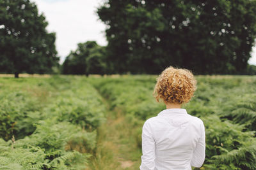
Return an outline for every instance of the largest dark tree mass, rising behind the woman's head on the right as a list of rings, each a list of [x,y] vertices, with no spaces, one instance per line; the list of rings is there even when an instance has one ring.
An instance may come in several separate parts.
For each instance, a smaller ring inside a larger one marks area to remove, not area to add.
[[[255,0],[109,0],[97,13],[108,25],[107,58],[115,73],[158,74],[172,65],[236,74],[246,72],[254,11]]]

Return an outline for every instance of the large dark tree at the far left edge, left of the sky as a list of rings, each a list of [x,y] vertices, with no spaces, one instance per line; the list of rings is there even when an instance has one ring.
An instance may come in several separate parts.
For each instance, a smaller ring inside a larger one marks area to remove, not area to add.
[[[51,73],[58,64],[55,33],[29,0],[0,1],[0,72]]]

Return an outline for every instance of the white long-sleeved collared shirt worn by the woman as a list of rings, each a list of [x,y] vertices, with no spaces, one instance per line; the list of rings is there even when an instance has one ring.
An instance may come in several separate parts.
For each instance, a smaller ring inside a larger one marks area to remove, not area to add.
[[[166,109],[149,118],[141,137],[141,170],[191,170],[204,163],[204,123],[185,109]]]

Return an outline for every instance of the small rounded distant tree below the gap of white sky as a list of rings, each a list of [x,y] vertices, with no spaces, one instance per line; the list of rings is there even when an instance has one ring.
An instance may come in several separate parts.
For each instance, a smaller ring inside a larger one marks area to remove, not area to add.
[[[101,74],[106,72],[105,47],[95,41],[79,43],[77,50],[70,52],[62,66],[63,74]]]

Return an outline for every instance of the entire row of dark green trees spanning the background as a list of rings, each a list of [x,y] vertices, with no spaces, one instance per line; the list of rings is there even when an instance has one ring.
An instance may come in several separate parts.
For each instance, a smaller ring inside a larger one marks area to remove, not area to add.
[[[59,66],[54,32],[28,0],[0,2],[0,72],[255,74],[248,65],[256,38],[256,1],[109,0],[97,9],[107,46],[79,43]]]

